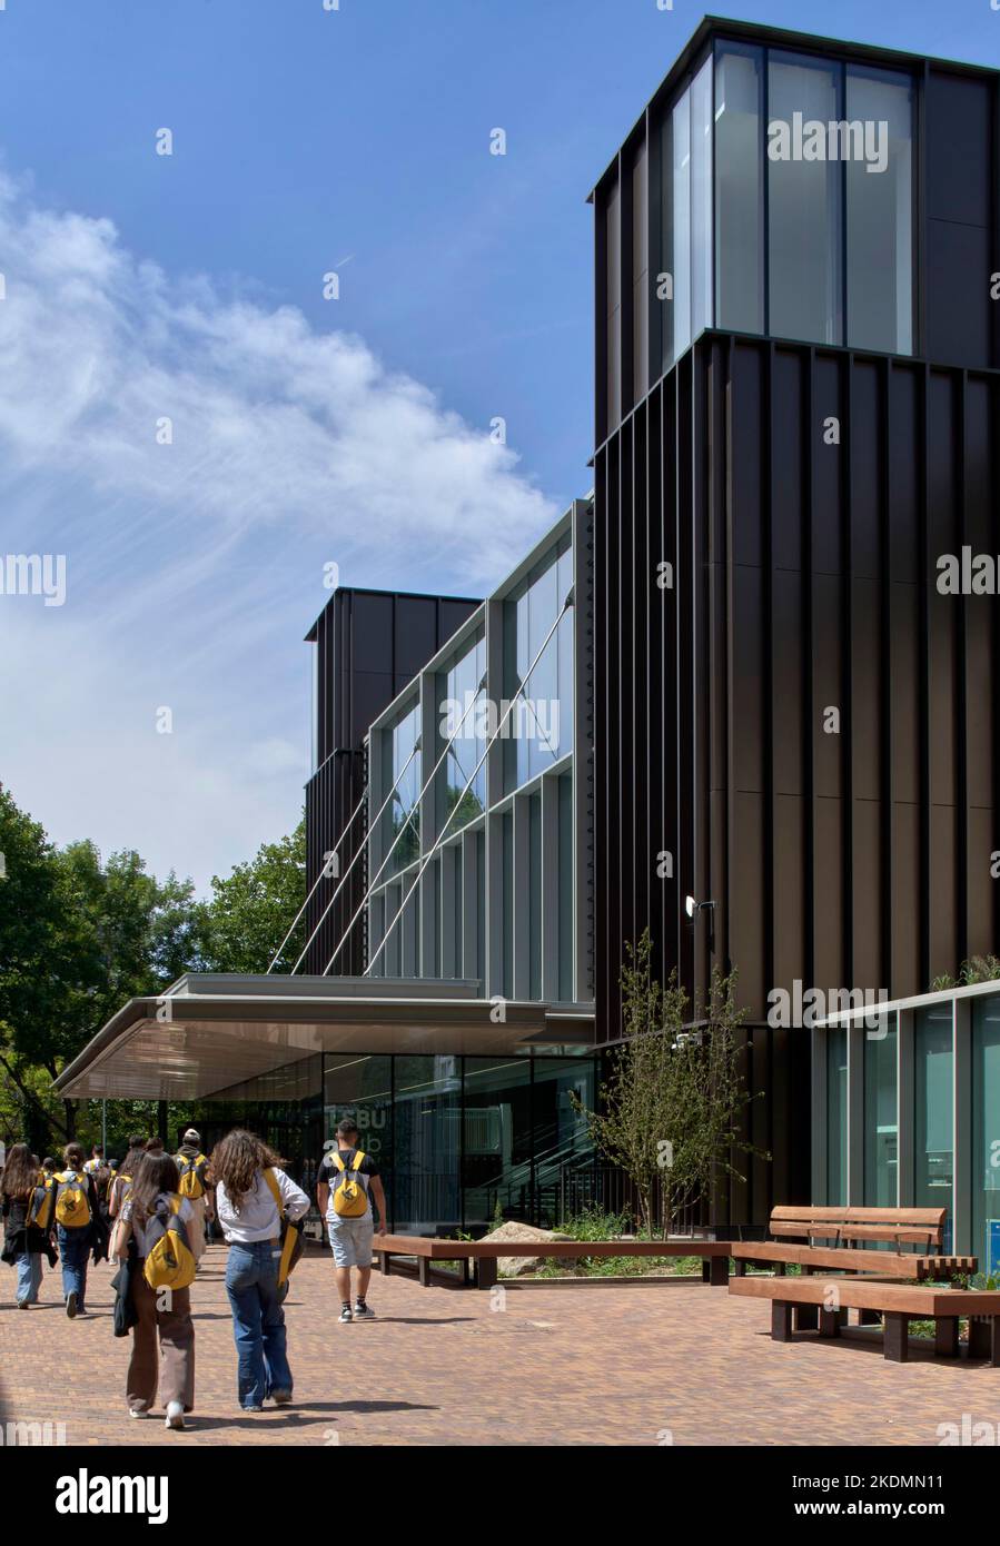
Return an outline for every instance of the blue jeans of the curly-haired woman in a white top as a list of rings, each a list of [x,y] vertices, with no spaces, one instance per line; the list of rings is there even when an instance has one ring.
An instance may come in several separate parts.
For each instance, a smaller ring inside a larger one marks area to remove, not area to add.
[[[260,1407],[275,1391],[292,1391],[284,1311],[278,1297],[278,1240],[233,1243],[226,1263],[226,1292],[233,1311],[241,1407]]]

